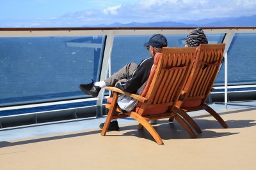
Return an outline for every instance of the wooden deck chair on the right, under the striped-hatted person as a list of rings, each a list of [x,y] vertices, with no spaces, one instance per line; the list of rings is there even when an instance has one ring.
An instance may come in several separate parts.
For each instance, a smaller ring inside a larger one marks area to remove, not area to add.
[[[202,131],[196,122],[187,114],[189,111],[206,110],[216,118],[224,128],[228,127],[220,115],[205,104],[220,69],[224,48],[225,44],[202,44],[199,46],[196,50],[196,58],[193,62],[188,81],[182,90],[182,96],[179,97],[179,101],[175,104],[175,108],[173,109],[189,122],[198,133],[202,133]],[[172,120],[173,118],[170,118],[170,121]]]

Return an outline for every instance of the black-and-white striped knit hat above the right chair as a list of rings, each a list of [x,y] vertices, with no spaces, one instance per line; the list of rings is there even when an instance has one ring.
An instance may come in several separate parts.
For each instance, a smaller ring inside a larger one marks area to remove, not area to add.
[[[208,41],[204,31],[198,27],[188,34],[185,45],[199,46],[200,44],[208,44]]]

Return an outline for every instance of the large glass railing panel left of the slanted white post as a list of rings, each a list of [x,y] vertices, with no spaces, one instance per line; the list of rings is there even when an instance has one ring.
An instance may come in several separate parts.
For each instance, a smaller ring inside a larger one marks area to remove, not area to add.
[[[0,38],[0,106],[84,97],[99,80],[105,36]]]

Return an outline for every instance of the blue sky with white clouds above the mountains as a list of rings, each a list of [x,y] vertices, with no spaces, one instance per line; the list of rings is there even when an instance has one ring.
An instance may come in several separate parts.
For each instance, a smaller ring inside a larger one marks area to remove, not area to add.
[[[256,14],[256,0],[6,0],[0,27],[79,27]]]

